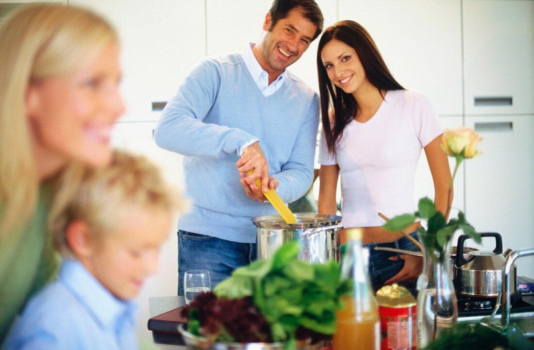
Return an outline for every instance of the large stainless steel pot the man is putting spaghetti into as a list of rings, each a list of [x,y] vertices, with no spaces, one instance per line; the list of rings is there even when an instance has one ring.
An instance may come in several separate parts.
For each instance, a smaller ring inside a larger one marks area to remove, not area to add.
[[[280,216],[258,216],[252,219],[257,227],[258,259],[271,256],[282,244],[297,240],[302,250],[299,259],[308,262],[339,261],[341,216],[297,213],[296,224],[287,224]]]

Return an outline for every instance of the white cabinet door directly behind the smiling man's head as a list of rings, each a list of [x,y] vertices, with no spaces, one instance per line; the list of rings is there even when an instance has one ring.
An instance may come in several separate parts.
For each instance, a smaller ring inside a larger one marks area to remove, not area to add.
[[[265,14],[269,12],[271,4],[272,0],[207,0],[207,55],[240,52],[247,43],[257,42],[262,34]],[[323,12],[325,26],[332,25],[336,21],[336,2],[317,0],[317,4]],[[229,25],[229,19],[238,22],[239,25]],[[304,55],[289,67],[289,71],[316,91],[319,91],[316,68],[318,42],[319,38],[313,41]]]

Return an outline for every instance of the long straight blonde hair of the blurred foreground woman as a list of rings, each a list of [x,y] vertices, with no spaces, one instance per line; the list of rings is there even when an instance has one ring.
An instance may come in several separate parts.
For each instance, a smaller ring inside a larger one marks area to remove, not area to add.
[[[110,42],[115,30],[89,10],[60,4],[21,6],[0,26],[0,238],[33,215],[37,178],[27,122],[28,85],[73,74]]]

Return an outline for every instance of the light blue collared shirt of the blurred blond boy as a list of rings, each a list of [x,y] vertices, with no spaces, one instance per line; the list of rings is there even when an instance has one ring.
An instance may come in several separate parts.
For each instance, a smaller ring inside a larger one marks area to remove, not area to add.
[[[65,260],[13,325],[5,350],[136,350],[131,301],[113,296],[83,265]]]

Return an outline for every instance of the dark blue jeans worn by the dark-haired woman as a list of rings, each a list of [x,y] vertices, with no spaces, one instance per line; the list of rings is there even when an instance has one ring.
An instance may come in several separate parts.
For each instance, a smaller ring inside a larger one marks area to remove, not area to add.
[[[417,231],[410,234],[415,239],[418,239]],[[412,243],[412,241],[406,237],[401,237],[394,242],[387,243],[370,243],[364,244],[364,247],[369,250],[369,275],[371,276],[371,283],[373,287],[380,287],[388,279],[399,273],[404,267],[404,260],[398,259],[397,261],[391,261],[391,256],[399,256],[400,254],[394,252],[384,252],[374,250],[375,247],[388,247],[403,249],[409,251],[419,251],[419,248]],[[421,259],[422,263],[422,259]],[[405,287],[414,288],[415,281],[400,283]]]

